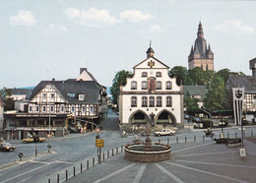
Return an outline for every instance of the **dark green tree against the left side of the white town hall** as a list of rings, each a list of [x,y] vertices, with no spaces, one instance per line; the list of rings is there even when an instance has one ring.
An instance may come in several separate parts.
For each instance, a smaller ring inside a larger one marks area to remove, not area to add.
[[[110,93],[112,94],[112,100],[114,104],[117,104],[117,98],[120,93],[120,86],[125,86],[126,78],[131,78],[133,74],[130,71],[119,71],[113,81],[112,87],[110,88]]]

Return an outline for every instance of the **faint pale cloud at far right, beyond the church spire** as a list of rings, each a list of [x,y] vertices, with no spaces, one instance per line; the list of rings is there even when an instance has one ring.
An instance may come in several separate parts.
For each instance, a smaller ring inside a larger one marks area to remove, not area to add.
[[[232,34],[254,34],[255,30],[252,27],[245,26],[241,21],[229,20],[216,27],[217,30],[224,33]]]

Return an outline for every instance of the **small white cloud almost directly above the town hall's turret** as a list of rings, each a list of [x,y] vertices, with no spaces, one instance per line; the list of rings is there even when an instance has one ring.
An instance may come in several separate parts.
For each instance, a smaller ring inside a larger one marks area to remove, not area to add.
[[[139,23],[152,18],[150,14],[143,14],[139,10],[126,10],[120,14],[121,20],[127,20],[132,23]]]

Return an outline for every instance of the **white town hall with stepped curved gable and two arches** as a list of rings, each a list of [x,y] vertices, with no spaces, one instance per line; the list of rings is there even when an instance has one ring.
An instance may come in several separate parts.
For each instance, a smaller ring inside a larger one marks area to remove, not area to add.
[[[154,57],[150,46],[147,59],[134,66],[132,78],[120,87],[120,125],[179,127],[183,122],[183,92],[176,79],[168,76],[169,67]]]

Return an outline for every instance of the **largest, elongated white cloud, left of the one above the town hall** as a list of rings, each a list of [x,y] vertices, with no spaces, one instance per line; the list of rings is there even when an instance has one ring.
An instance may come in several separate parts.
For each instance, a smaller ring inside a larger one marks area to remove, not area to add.
[[[95,7],[89,10],[68,8],[65,14],[76,24],[88,27],[113,26],[119,23],[115,17],[109,15],[107,10],[97,10]]]

